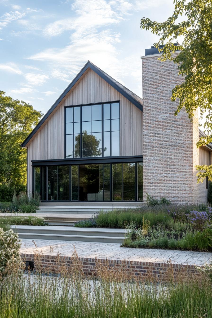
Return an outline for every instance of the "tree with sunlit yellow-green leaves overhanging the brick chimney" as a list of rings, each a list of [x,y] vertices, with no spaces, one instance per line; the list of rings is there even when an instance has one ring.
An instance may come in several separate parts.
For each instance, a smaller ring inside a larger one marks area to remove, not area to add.
[[[192,118],[199,108],[200,118],[204,118],[206,137],[201,137],[197,147],[212,142],[212,1],[211,0],[174,0],[174,12],[165,22],[151,21],[143,17],[140,28],[151,30],[159,40],[154,46],[159,49],[161,61],[173,60],[178,65],[179,75],[185,77],[181,85],[174,87],[171,100],[179,99],[175,111],[177,115],[185,108],[188,117]],[[178,22],[178,17],[185,20]],[[182,36],[181,45],[174,41]],[[163,46],[160,48],[160,46]],[[181,50],[173,58],[172,52]],[[197,166],[197,182],[206,176],[212,181],[212,165]]]

